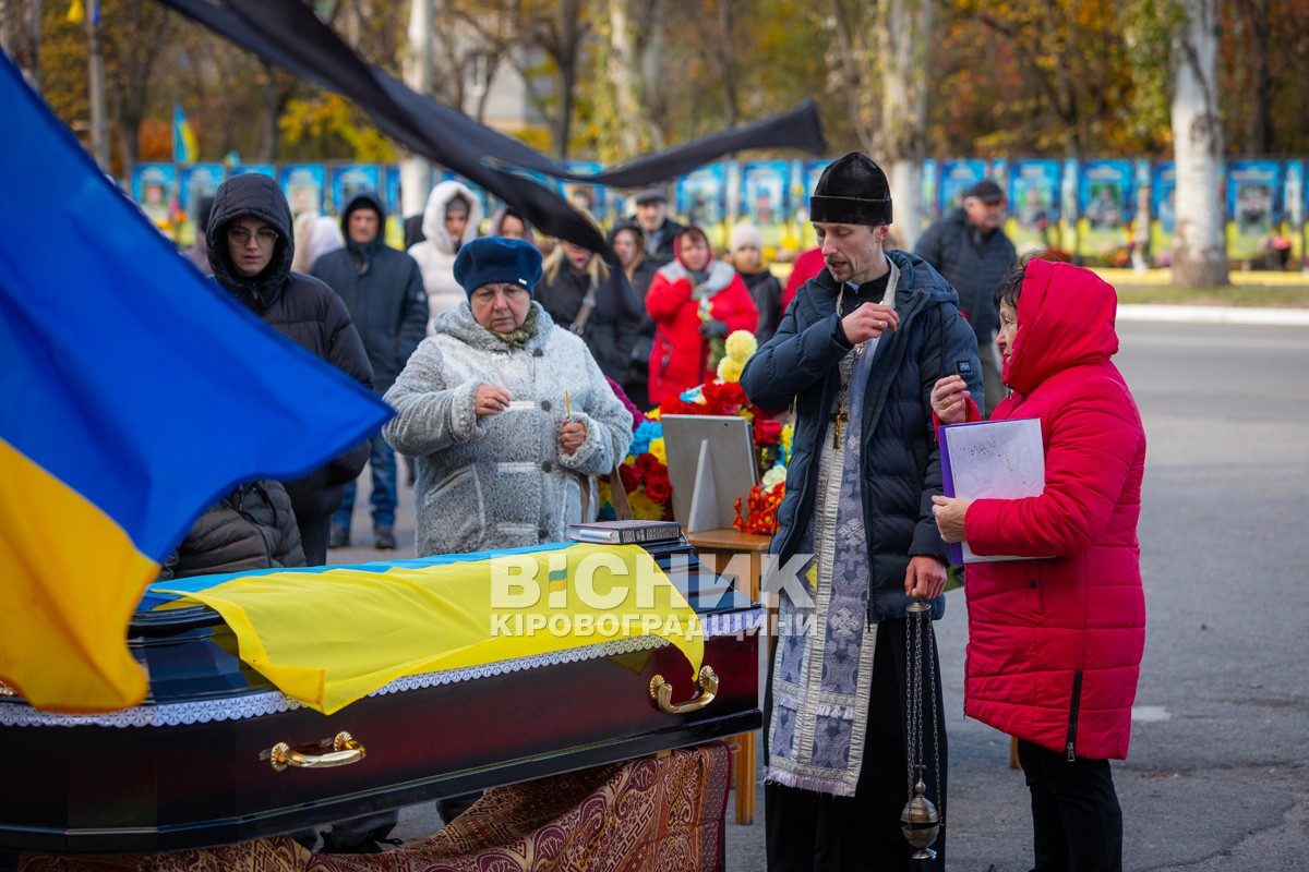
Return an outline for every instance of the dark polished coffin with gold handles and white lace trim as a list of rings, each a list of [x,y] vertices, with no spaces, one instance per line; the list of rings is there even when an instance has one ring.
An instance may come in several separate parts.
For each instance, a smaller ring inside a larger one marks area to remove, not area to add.
[[[245,668],[215,612],[137,612],[141,706],[60,715],[0,696],[0,850],[226,845],[758,728],[761,608],[685,539],[645,549],[704,626],[707,705],[675,647],[637,637],[407,676],[323,715]]]

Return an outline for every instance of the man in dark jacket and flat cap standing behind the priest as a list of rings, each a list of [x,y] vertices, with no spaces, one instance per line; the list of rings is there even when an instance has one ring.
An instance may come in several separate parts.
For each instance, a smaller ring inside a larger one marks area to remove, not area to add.
[[[936,267],[959,294],[959,311],[978,337],[987,417],[1005,394],[1000,352],[995,346],[1000,329],[995,290],[1018,259],[1009,237],[1000,229],[1004,205],[1004,190],[983,179],[963,195],[961,208],[928,227],[914,246],[914,254]]]

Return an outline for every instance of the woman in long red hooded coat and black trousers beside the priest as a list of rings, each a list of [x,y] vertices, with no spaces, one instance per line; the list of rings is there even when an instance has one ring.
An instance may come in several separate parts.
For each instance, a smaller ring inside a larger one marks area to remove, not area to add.
[[[996,293],[1012,394],[992,418],[1041,418],[1039,497],[933,497],[970,563],[965,713],[1018,739],[1031,791],[1037,869],[1122,869],[1122,812],[1109,760],[1127,757],[1145,646],[1140,516],[1145,433],[1110,362],[1117,295],[1089,269],[1033,260]],[[946,424],[977,420],[958,377],[932,390]],[[1050,557],[1054,554],[1054,557]]]

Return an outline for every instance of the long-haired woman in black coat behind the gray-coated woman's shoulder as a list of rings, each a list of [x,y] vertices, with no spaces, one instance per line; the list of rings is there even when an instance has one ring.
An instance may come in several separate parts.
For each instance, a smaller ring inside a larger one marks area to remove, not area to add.
[[[558,242],[541,269],[537,302],[555,324],[581,336],[601,373],[620,382],[645,315],[627,276],[567,239]]]

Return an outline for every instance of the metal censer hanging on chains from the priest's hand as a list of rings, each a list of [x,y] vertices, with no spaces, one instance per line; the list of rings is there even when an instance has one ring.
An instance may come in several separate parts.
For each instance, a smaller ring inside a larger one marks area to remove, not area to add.
[[[901,831],[915,850],[915,860],[931,860],[936,858],[936,851],[931,845],[936,842],[941,831],[941,814],[936,805],[925,796],[927,787],[923,784],[923,770],[927,762],[923,757],[923,697],[932,699],[932,754],[936,763],[936,796],[941,796],[941,743],[940,743],[940,716],[936,710],[936,669],[931,667],[931,660],[923,663],[924,643],[931,651],[932,633],[929,629],[929,607],[922,600],[910,603],[906,609],[905,647],[906,665],[908,671],[908,728],[906,743],[908,745],[908,803],[901,812]],[[925,641],[924,641],[925,634]],[[924,672],[929,685],[924,693]],[[944,809],[944,804],[942,804]]]

